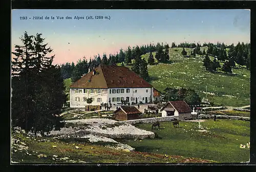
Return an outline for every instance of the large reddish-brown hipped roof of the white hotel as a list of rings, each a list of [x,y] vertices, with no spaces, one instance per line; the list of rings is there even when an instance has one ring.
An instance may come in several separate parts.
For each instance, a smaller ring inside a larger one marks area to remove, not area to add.
[[[93,71],[73,83],[70,88],[152,88],[138,74],[123,66],[99,65]],[[89,82],[90,80],[90,82]]]

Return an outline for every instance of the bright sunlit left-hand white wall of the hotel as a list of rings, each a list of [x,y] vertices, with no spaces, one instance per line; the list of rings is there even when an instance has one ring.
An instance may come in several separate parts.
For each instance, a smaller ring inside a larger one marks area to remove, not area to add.
[[[93,98],[94,100],[90,105],[100,105],[102,102],[105,103],[107,101],[107,89],[93,89],[92,94],[91,89],[86,89],[86,93],[84,93],[83,89],[78,89],[78,93],[76,93],[76,90],[73,88],[70,89],[70,107],[84,107],[89,105],[83,98]],[[100,93],[98,93],[98,90],[100,90]],[[101,102],[97,102],[97,98],[101,98]]]

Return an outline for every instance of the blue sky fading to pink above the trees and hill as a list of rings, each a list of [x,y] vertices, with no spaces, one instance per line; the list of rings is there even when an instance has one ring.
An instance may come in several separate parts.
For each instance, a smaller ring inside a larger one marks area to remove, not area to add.
[[[43,19],[33,19],[33,16]],[[67,16],[72,19],[66,19]],[[87,19],[89,16],[93,19]],[[103,53],[109,57],[121,48],[157,42],[169,45],[185,41],[201,44],[219,41],[227,45],[250,42],[250,10],[16,9],[12,10],[11,29],[12,51],[15,45],[22,45],[20,37],[25,31],[29,35],[42,33],[53,49],[56,65],[76,63],[78,59],[90,59],[97,54],[102,57]]]

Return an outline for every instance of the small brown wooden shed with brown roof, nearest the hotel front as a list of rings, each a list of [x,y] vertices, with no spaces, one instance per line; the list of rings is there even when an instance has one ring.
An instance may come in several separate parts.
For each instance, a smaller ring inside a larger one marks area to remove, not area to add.
[[[114,112],[114,117],[118,121],[141,119],[141,115],[135,106],[121,106]]]

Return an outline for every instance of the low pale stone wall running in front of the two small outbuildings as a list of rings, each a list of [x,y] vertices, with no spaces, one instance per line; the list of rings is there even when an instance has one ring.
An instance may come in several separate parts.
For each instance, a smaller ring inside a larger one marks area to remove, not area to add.
[[[162,122],[162,121],[172,121],[174,118],[179,119],[177,116],[167,116],[167,117],[156,117],[156,118],[145,118],[145,119],[135,119],[135,120],[127,120],[127,121],[118,121],[120,123],[130,123],[130,124],[136,124],[136,123],[153,123],[156,121]]]

